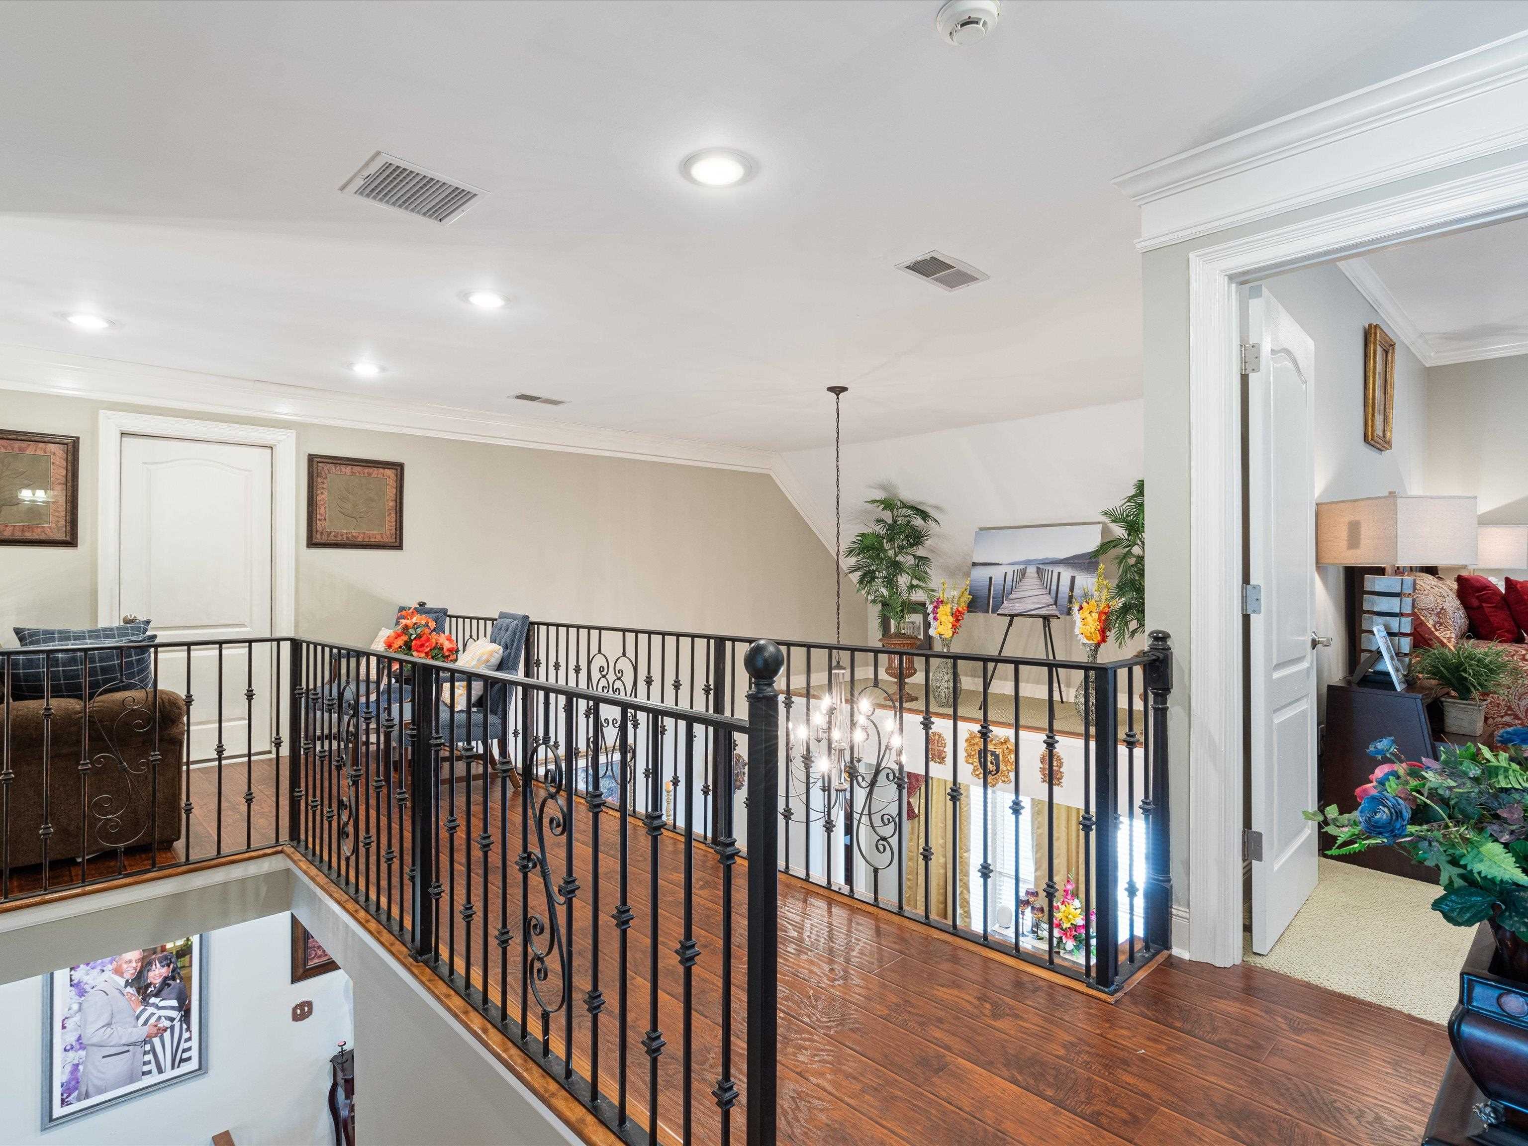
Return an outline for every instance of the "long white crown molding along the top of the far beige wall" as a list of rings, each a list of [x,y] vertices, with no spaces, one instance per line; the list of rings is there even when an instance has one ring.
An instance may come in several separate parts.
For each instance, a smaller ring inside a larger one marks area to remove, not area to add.
[[[348,426],[388,434],[489,442],[524,449],[740,469],[752,474],[773,472],[775,458],[770,452],[741,446],[597,426],[536,425],[515,422],[494,411],[399,402],[18,345],[0,345],[0,390]]]

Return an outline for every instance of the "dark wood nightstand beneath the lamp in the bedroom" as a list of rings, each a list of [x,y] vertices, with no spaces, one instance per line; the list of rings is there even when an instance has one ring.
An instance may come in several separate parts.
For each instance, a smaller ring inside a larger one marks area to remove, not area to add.
[[[1421,692],[1412,689],[1397,692],[1390,688],[1363,685],[1326,686],[1326,736],[1322,741],[1317,784],[1323,808],[1329,804],[1343,811],[1354,808],[1357,802],[1354,788],[1368,784],[1369,773],[1380,764],[1369,755],[1369,744],[1381,736],[1395,736],[1395,747],[1406,759],[1423,759],[1436,753],[1427,720],[1427,703]],[[1323,851],[1325,847],[1326,840]],[[1423,883],[1438,882],[1436,871],[1416,863],[1400,848],[1369,848],[1334,859]]]

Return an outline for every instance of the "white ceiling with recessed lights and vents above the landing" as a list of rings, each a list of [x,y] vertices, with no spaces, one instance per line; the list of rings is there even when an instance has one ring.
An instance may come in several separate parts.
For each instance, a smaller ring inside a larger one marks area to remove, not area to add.
[[[1004,8],[955,49],[938,0],[6,3],[0,342],[761,449],[825,442],[833,382],[851,440],[1132,397],[1111,177],[1528,28]],[[758,176],[692,186],[706,145]],[[492,194],[451,226],[341,196],[376,150]],[[894,269],[929,249],[992,280]]]

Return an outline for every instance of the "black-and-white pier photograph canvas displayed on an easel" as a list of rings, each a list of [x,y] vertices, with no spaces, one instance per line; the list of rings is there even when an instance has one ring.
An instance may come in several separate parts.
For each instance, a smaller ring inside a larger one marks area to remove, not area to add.
[[[970,555],[970,611],[1001,617],[1067,616],[1093,584],[1102,521],[978,529]]]

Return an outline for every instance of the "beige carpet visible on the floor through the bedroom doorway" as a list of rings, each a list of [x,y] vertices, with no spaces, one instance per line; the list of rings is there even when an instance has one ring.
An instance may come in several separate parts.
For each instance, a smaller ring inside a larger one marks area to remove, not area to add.
[[[1248,963],[1320,987],[1447,1022],[1475,927],[1453,927],[1427,905],[1430,883],[1322,859],[1320,882],[1267,955]]]

